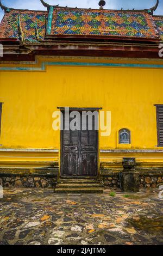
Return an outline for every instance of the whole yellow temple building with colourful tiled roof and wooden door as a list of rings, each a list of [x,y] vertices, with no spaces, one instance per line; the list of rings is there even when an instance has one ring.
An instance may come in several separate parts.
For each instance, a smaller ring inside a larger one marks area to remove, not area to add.
[[[99,181],[123,189],[123,173],[130,173],[135,189],[158,188],[163,184],[163,16],[154,15],[159,1],[143,10],[105,9],[105,1],[97,9],[40,1],[45,11],[13,9],[0,0],[3,186],[57,184],[58,193],[102,192]],[[92,113],[92,130],[87,125],[66,130],[73,111],[80,123],[83,112]],[[105,117],[99,129],[94,112],[100,124]],[[54,127],[57,113],[60,130]]]

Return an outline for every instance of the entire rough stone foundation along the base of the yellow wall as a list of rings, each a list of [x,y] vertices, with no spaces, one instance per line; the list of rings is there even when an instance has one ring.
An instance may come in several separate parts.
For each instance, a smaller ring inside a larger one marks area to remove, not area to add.
[[[157,189],[163,185],[163,170],[138,170],[140,174],[140,189]],[[104,187],[121,188],[120,170],[101,170],[100,179]],[[58,180],[58,169],[33,170],[33,173],[24,170],[1,170],[0,185],[3,187],[39,187],[54,188]]]

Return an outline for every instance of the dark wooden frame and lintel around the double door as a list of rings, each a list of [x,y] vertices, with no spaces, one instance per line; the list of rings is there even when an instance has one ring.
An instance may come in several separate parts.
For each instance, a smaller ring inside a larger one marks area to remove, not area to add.
[[[61,112],[65,111],[65,107],[57,107],[58,109],[60,109]],[[82,112],[82,111],[98,111],[101,110],[102,108],[78,108],[78,107],[70,107],[69,108],[69,111],[79,111],[79,112]],[[98,118],[98,123],[99,123],[99,118]],[[95,175],[92,175],[92,178],[93,177],[99,177],[99,130],[97,130],[97,144],[96,144],[96,154],[97,154],[97,160],[96,160],[96,163],[97,163],[97,169],[96,169],[96,174]],[[66,175],[63,175],[63,165],[62,165],[62,131],[60,130],[60,168],[59,168],[59,178],[64,178],[64,177],[67,177]],[[80,177],[85,177],[86,178],[86,175],[85,176],[82,176],[82,175],[79,175],[79,176],[68,176],[68,178],[80,178]]]

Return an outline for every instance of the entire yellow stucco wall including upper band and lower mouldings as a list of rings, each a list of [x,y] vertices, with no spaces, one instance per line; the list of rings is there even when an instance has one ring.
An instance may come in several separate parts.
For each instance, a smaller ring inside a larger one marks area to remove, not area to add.
[[[4,102],[0,167],[45,168],[59,162],[60,134],[52,129],[52,114],[58,106],[102,107],[111,111],[111,135],[99,136],[99,162],[103,166],[109,163],[111,169],[122,168],[123,157],[136,157],[145,168],[162,167],[163,150],[157,147],[154,106],[163,104],[162,68],[62,63],[41,71],[42,62],[52,61],[163,65],[162,60],[82,57],[38,57],[33,64],[0,63],[0,102]],[[2,67],[40,71],[2,71]],[[118,144],[118,130],[124,127],[131,130],[131,145]]]

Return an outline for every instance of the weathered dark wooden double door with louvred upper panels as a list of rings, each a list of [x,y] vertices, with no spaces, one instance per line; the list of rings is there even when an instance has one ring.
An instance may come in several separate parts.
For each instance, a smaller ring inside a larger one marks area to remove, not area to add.
[[[97,118],[92,116],[92,130],[89,129],[89,117],[86,117],[83,130],[82,112],[80,129],[65,130],[65,112],[61,131],[61,176],[96,176],[98,169],[98,131]],[[92,113],[92,112],[91,112]],[[69,119],[69,124],[71,122]]]

